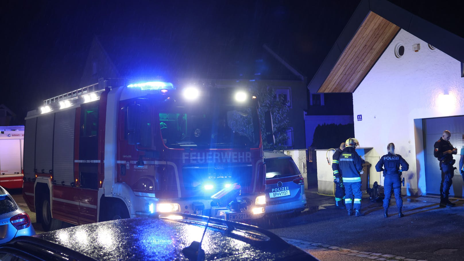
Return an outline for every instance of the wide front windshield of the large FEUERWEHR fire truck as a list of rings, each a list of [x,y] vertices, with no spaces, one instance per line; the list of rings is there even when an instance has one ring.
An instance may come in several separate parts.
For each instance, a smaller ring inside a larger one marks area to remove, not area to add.
[[[159,121],[168,148],[258,148],[261,138],[256,108],[174,107]]]

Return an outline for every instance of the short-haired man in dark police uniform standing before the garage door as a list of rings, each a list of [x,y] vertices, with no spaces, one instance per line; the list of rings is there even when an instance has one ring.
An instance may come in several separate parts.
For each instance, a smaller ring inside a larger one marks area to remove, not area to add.
[[[456,160],[453,159],[453,154],[458,154],[458,149],[453,148],[450,143],[451,132],[443,131],[441,138],[433,145],[433,156],[440,161],[441,183],[440,183],[440,207],[451,208],[456,205],[448,199],[450,195],[450,187],[453,183],[454,168]]]

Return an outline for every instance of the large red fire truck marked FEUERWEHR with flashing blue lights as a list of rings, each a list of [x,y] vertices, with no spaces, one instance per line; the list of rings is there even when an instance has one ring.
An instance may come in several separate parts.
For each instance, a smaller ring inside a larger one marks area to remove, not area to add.
[[[264,215],[256,96],[115,82],[47,99],[27,114],[23,197],[44,230],[154,212],[232,221]]]

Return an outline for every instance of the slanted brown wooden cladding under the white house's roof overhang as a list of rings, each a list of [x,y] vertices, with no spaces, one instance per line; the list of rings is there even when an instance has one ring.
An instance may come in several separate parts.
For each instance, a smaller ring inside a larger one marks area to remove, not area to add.
[[[353,92],[399,30],[369,12],[318,92]]]

